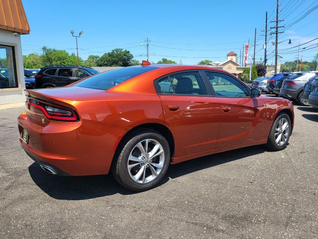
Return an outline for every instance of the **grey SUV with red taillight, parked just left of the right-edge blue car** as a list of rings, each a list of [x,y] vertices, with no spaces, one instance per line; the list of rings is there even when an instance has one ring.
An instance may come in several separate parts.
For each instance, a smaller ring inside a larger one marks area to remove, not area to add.
[[[307,106],[300,97],[303,93],[306,82],[315,75],[314,72],[297,73],[283,81],[282,88],[280,89],[280,96],[289,100],[297,100],[299,104]]]

